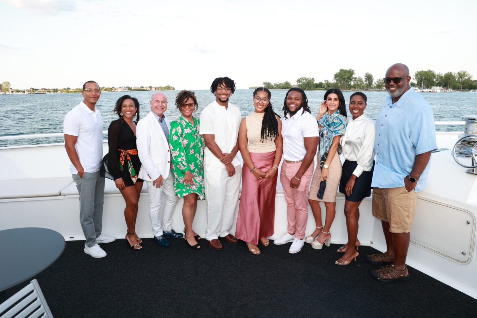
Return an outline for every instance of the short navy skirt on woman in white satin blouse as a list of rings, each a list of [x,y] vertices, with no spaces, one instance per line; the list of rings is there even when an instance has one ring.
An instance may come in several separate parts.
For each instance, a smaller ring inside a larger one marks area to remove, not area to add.
[[[353,174],[353,171],[356,169],[357,165],[358,164],[356,161],[345,160],[343,164],[343,173],[341,174],[340,180],[340,192],[344,194],[347,201],[351,202],[359,202],[365,197],[371,196],[371,181],[373,180],[374,162],[371,171],[363,171],[363,173],[356,178],[351,195],[346,195],[344,191],[346,183],[348,183],[348,180],[350,180],[351,175]]]

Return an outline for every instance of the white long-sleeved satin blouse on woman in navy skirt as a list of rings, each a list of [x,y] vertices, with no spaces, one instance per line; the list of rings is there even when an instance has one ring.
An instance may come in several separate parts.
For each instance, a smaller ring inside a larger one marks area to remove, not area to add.
[[[348,122],[340,144],[344,159],[358,164],[353,174],[359,177],[363,171],[371,171],[374,161],[376,123],[365,114]]]

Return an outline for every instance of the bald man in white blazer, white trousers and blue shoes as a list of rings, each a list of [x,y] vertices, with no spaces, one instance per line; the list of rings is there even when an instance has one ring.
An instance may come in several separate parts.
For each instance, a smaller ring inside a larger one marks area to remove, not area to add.
[[[161,92],[151,97],[151,111],[136,126],[136,143],[141,170],[138,177],[144,179],[149,192],[149,217],[157,244],[169,246],[166,237],[182,237],[172,229],[172,214],[178,197],[174,193],[173,174],[170,172],[171,152],[169,149],[169,121],[164,112],[167,98]],[[162,194],[166,205],[161,213]]]

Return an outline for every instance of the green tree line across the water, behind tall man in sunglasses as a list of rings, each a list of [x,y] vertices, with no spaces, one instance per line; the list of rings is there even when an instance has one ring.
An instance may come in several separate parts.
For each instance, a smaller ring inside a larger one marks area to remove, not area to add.
[[[291,87],[300,87],[303,90],[327,90],[332,87],[338,87],[341,90],[384,90],[384,80],[378,78],[374,80],[373,74],[364,73],[364,76],[355,76],[353,69],[340,69],[333,75],[333,81],[324,80],[315,82],[314,77],[300,77],[296,80],[296,85],[286,81],[283,83],[263,82],[263,87],[268,89],[290,89]],[[436,73],[432,70],[415,72],[411,86],[419,88],[442,86],[448,89],[460,87],[463,89],[477,89],[477,81],[472,81],[472,75],[467,71],[446,72],[445,74]],[[421,87],[423,86],[423,87]],[[256,87],[253,87],[256,88]]]

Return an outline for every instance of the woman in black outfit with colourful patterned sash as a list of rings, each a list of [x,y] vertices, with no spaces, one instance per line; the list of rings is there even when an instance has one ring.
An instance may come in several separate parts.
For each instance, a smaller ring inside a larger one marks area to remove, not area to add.
[[[141,162],[137,155],[136,123],[139,121],[139,102],[136,98],[124,95],[114,107],[119,119],[113,121],[108,129],[109,160],[108,170],[114,176],[114,183],[126,201],[126,240],[134,249],[141,249],[142,240],[135,233],[137,203],[143,187],[143,179],[137,174]],[[136,121],[133,120],[136,116]]]

